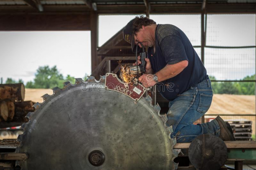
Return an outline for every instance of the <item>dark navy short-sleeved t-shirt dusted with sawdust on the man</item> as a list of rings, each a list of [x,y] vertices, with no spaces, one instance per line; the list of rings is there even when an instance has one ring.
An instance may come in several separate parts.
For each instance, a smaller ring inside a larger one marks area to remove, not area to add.
[[[174,100],[190,87],[208,79],[206,69],[188,37],[178,27],[171,24],[158,24],[155,30],[155,53],[148,48],[148,58],[154,72],[166,64],[176,64],[187,60],[188,66],[177,76],[157,84],[157,90],[169,101]]]

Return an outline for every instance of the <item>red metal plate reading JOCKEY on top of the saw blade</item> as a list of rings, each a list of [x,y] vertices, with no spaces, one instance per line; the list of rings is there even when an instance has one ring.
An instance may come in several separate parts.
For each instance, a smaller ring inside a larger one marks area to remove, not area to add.
[[[135,101],[139,101],[142,95],[146,92],[146,88],[141,84],[133,86],[132,83],[124,83],[113,73],[106,73],[105,88],[127,95]]]

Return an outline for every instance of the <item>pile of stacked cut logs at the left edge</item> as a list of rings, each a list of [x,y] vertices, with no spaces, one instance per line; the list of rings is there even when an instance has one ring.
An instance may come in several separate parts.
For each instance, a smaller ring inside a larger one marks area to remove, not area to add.
[[[27,113],[34,112],[32,101],[24,101],[25,86],[18,84],[0,84],[0,128],[19,126],[28,120]]]

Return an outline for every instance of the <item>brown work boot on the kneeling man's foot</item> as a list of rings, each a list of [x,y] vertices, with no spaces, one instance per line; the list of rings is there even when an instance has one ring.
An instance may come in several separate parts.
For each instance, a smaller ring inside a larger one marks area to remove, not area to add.
[[[217,116],[215,118],[215,120],[217,120],[218,124],[219,124],[219,128],[221,130],[219,137],[223,140],[223,141],[232,141],[232,140],[236,140],[233,136],[233,131],[232,128],[230,126],[230,124],[228,122],[225,122],[221,117]]]

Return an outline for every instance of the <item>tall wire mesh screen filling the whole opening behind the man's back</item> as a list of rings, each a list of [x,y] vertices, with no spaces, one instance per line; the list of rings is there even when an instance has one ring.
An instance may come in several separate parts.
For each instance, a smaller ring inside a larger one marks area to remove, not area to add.
[[[221,115],[236,140],[255,140],[255,20],[255,15],[207,15],[204,65],[214,96],[204,122]]]

